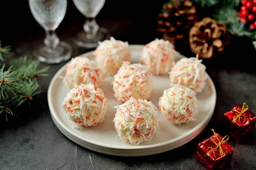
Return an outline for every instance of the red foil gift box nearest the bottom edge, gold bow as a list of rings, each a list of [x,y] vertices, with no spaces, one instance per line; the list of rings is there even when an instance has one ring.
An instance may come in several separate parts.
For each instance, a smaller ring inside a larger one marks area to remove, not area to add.
[[[207,170],[219,170],[231,161],[233,147],[226,142],[229,139],[228,136],[222,138],[213,129],[212,131],[214,135],[198,144],[195,159]]]

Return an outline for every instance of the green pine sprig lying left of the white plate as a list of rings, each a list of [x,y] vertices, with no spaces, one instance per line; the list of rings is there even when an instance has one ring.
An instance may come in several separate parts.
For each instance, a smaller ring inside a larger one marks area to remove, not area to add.
[[[40,91],[37,77],[46,76],[44,74],[49,67],[38,70],[39,61],[28,57],[20,57],[11,62],[5,70],[5,65],[0,66],[0,113],[15,115],[13,107],[20,106],[26,100],[32,100],[33,96]]]

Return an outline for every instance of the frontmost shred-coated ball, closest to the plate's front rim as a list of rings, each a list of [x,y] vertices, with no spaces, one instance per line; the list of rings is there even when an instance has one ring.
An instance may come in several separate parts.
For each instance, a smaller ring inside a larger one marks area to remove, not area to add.
[[[157,108],[149,101],[131,97],[122,105],[116,106],[113,119],[118,136],[131,144],[150,141],[159,133]]]

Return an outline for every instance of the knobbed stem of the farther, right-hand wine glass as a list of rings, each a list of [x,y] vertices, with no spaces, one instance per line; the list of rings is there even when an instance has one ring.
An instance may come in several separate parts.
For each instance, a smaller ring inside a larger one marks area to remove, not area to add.
[[[93,39],[99,30],[99,25],[96,23],[95,17],[88,17],[84,23],[84,31],[87,33],[87,39]]]

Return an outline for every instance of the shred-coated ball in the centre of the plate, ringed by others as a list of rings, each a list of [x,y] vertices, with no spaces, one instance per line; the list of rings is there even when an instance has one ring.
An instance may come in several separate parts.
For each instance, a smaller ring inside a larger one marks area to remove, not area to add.
[[[149,99],[153,91],[153,74],[144,65],[123,62],[114,76],[114,96],[120,102],[135,99]]]

